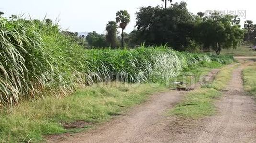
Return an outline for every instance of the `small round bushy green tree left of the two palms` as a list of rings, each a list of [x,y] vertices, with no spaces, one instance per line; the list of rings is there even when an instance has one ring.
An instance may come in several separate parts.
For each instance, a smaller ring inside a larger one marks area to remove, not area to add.
[[[88,33],[86,36],[86,41],[88,44],[92,47],[107,47],[107,42],[106,42],[106,36],[103,34],[98,34],[95,31],[92,33]]]

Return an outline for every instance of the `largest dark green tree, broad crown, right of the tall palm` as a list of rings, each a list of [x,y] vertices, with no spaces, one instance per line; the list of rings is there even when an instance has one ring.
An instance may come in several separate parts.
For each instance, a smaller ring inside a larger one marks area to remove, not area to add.
[[[136,43],[140,45],[165,45],[184,51],[190,45],[194,17],[186,3],[174,3],[172,7],[142,7],[136,13]]]

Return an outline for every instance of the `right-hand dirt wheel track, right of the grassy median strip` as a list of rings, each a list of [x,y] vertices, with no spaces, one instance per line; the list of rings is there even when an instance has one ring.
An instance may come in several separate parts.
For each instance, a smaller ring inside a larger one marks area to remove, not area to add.
[[[252,97],[243,91],[243,67],[233,72],[223,99],[217,102],[219,114],[209,119],[198,142],[256,142],[256,106]]]

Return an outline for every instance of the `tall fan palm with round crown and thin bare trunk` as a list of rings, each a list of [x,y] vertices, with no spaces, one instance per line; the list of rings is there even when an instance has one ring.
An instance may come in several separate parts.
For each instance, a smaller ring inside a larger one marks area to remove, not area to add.
[[[124,29],[130,22],[130,14],[127,12],[127,10],[121,10],[116,13],[116,23],[119,23],[119,28],[122,29],[122,48],[124,48]]]

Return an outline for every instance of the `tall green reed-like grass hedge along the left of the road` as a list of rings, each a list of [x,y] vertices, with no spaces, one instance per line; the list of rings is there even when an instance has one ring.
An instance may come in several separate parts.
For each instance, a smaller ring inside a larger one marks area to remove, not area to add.
[[[165,47],[134,50],[81,48],[58,25],[0,17],[0,105],[57,97],[95,82],[166,82],[202,61],[231,57],[180,53]]]

